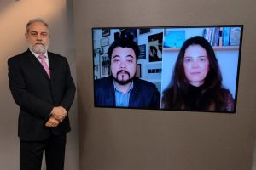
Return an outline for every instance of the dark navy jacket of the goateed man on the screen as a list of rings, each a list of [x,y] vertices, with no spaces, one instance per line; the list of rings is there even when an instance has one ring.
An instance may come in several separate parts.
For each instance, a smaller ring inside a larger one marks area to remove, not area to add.
[[[102,107],[115,107],[115,94],[113,77],[105,77],[95,81],[95,105]],[[129,107],[140,109],[159,109],[160,93],[151,82],[138,78],[133,80]]]

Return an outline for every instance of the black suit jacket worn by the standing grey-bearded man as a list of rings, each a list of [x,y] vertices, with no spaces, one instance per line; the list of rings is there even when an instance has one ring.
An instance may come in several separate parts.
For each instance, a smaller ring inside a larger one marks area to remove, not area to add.
[[[48,57],[50,78],[29,49],[8,59],[9,88],[20,106],[20,140],[43,140],[51,133],[60,135],[70,131],[68,116],[58,127],[44,126],[54,106],[69,110],[76,90],[67,59],[50,52]]]

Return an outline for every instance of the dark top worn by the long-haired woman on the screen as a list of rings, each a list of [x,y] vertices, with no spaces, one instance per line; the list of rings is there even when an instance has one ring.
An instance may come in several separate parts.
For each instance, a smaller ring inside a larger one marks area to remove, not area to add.
[[[189,84],[185,92],[174,96],[174,88],[165,90],[162,98],[162,109],[183,111],[234,111],[234,99],[230,91],[195,87]]]

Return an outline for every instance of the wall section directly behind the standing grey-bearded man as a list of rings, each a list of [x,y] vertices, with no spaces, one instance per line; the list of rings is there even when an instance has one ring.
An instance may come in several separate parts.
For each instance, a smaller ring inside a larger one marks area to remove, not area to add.
[[[0,0],[0,169],[19,169],[17,136],[18,111],[9,92],[7,59],[27,49],[26,22],[42,17],[49,22],[50,51],[67,57],[76,81],[76,63],[73,35],[73,4],[63,0]],[[79,169],[79,137],[77,99],[69,112],[73,131],[67,135],[66,169]],[[43,167],[45,169],[45,167]]]

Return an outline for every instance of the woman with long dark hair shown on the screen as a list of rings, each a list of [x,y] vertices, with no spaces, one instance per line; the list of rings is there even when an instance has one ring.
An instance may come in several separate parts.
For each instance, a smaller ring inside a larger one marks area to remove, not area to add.
[[[191,37],[177,56],[172,82],[163,92],[162,108],[183,111],[234,111],[234,99],[223,88],[218,60],[203,37]]]

